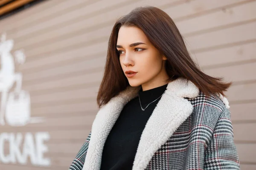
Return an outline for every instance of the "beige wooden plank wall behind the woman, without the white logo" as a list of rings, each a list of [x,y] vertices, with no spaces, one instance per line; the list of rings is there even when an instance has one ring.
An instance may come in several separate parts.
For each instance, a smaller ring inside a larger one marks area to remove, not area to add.
[[[232,80],[227,92],[241,170],[256,170],[256,0],[48,0],[0,20],[0,33],[23,48],[16,65],[44,122],[0,126],[0,133],[49,132],[50,167],[0,164],[1,170],[63,170],[73,161],[97,112],[111,28],[138,6],[166,11],[209,75]],[[6,148],[8,150],[8,148]]]

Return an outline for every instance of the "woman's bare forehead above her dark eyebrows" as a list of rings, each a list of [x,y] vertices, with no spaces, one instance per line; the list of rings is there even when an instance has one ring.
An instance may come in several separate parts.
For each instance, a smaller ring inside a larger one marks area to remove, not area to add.
[[[117,45],[130,45],[134,42],[147,43],[148,38],[140,28],[122,26],[118,32]]]

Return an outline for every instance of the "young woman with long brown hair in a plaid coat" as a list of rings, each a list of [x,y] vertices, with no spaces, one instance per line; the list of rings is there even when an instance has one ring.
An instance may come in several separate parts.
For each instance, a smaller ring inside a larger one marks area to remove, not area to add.
[[[113,26],[99,112],[70,170],[239,170],[230,85],[200,71],[168,14],[134,9]]]

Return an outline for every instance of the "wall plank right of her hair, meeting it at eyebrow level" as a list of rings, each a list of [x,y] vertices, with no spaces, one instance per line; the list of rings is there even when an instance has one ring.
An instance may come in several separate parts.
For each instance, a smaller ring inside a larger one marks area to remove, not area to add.
[[[189,51],[207,51],[209,48],[256,39],[256,22],[246,23],[231,28],[185,37]]]

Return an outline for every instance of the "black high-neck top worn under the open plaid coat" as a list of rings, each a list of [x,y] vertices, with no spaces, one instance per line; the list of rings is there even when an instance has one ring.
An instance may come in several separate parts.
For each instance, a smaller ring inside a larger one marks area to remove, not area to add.
[[[139,91],[139,96],[128,102],[121,111],[105,142],[101,170],[131,170],[139,145],[140,136],[151,113],[161,99],[168,84],[147,91]],[[159,99],[157,99],[160,97]],[[155,102],[153,102],[157,99]],[[142,111],[140,107],[146,108]]]

